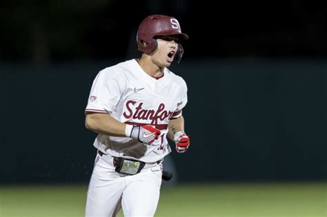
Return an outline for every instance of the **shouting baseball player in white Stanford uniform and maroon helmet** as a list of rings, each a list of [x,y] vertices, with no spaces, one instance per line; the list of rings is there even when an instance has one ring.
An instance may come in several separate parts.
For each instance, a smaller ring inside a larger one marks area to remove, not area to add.
[[[97,132],[95,167],[86,216],[154,216],[159,201],[162,161],[190,139],[182,109],[187,86],[168,70],[181,61],[180,41],[188,39],[174,17],[146,17],[137,32],[140,59],[124,61],[97,74],[86,106],[86,128]]]

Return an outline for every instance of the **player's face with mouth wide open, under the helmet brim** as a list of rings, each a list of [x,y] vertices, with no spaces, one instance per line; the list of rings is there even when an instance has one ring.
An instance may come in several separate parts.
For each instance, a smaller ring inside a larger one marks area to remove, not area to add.
[[[174,61],[178,47],[175,36],[157,37],[158,48],[152,56],[152,61],[159,67],[168,67]]]

